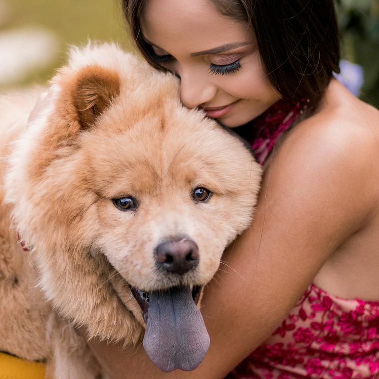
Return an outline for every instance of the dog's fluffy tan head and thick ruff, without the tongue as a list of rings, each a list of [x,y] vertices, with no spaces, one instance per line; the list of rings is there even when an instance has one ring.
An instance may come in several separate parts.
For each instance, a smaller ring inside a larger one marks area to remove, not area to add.
[[[130,288],[145,319],[144,297],[195,296],[249,225],[260,168],[180,104],[177,78],[114,45],[73,51],[51,92],[14,144],[7,200],[59,312],[135,342],[133,318],[143,321]]]

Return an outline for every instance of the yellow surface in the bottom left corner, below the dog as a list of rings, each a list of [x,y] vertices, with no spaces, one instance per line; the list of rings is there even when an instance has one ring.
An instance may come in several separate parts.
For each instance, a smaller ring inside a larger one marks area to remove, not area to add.
[[[0,379],[44,379],[45,364],[0,353]]]

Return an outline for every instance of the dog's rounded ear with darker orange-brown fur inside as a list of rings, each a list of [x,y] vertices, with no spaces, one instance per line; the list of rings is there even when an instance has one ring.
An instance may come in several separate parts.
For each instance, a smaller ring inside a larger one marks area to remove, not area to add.
[[[83,68],[71,92],[81,126],[87,128],[93,125],[119,92],[120,77],[117,72],[95,65]]]

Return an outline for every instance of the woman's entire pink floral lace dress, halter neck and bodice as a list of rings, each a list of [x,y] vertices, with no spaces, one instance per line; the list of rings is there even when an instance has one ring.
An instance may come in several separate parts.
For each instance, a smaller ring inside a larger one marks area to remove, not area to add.
[[[307,103],[279,101],[256,119],[259,163]],[[342,299],[311,284],[270,338],[225,379],[254,378],[379,379],[379,301]]]

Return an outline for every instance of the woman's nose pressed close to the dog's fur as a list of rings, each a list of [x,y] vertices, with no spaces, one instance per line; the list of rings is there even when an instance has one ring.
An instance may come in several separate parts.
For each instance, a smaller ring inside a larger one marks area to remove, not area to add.
[[[212,100],[217,92],[213,83],[196,77],[196,75],[180,75],[181,101],[187,108],[196,108]]]

